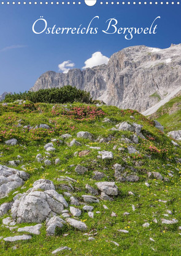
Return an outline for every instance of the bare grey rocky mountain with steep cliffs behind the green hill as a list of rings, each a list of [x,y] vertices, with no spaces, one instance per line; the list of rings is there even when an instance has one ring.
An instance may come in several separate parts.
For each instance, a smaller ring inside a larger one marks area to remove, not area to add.
[[[168,49],[128,47],[113,54],[107,65],[68,73],[48,71],[31,91],[65,85],[90,91],[108,105],[144,112],[180,90],[181,44]]]

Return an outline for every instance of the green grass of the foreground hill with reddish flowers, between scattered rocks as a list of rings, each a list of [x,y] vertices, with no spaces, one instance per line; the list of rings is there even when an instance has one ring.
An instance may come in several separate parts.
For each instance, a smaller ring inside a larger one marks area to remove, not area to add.
[[[68,109],[68,110],[67,110]],[[132,117],[131,117],[132,116]],[[110,118],[110,123],[104,123],[102,120]],[[134,119],[133,119],[134,117]],[[20,121],[21,120],[21,121]],[[120,122],[138,123],[143,125],[142,134],[146,139],[139,137],[138,144],[128,144],[121,141],[121,136],[131,138],[131,131],[113,131]],[[18,126],[21,123],[22,126]],[[23,129],[23,126],[36,126],[45,123],[51,127],[50,130]],[[88,131],[93,134],[94,139],[99,136],[107,138],[111,136],[109,142],[95,142],[88,139],[76,138],[79,131]],[[37,162],[38,153],[45,157],[44,145],[50,142],[52,138],[61,138],[61,134],[69,133],[72,138],[64,140],[63,144],[54,143],[56,151],[50,152],[48,159],[52,165],[45,166],[44,162]],[[7,146],[4,142],[7,139],[16,138],[16,146]],[[82,146],[67,146],[73,138],[82,143]],[[2,106],[0,104],[0,163],[8,165],[10,160],[17,160],[17,155],[21,155],[21,162],[17,165],[18,170],[25,165],[26,171],[30,177],[22,188],[10,192],[8,197],[0,199],[0,205],[4,202],[10,202],[13,199],[13,192],[26,192],[32,187],[34,181],[40,178],[52,180],[56,191],[63,194],[60,184],[66,184],[66,181],[57,181],[60,176],[69,176],[78,182],[72,184],[74,191],[72,195],[78,197],[83,202],[82,195],[89,194],[85,189],[85,184],[90,184],[94,188],[93,171],[101,171],[106,176],[101,181],[115,181],[114,168],[115,163],[120,163],[125,167],[124,173],[129,175],[135,173],[139,176],[139,181],[116,182],[119,194],[114,197],[114,201],[100,200],[99,204],[90,204],[94,206],[94,218],[88,217],[86,212],[77,219],[82,220],[88,226],[86,233],[94,234],[94,240],[88,241],[84,232],[77,231],[70,226],[64,226],[63,229],[57,229],[55,236],[47,236],[45,232],[45,223],[41,229],[40,235],[32,235],[29,241],[5,242],[2,238],[7,236],[20,235],[17,229],[10,231],[2,225],[2,219],[9,217],[10,213],[0,218],[0,252],[3,256],[12,255],[52,255],[52,251],[61,246],[71,247],[71,251],[64,251],[56,255],[77,255],[77,256],[113,256],[113,255],[181,255],[180,233],[181,226],[181,200],[180,200],[180,173],[181,158],[180,147],[175,148],[171,140],[160,130],[155,128],[153,122],[134,110],[120,110],[117,107],[102,105],[95,107],[93,105],[83,104],[32,104],[26,102],[23,105],[9,104]],[[89,146],[99,146],[101,151],[112,151],[114,159],[98,158],[98,151],[90,149]],[[128,154],[128,146],[135,147],[139,154]],[[115,149],[114,146],[117,146]],[[123,147],[123,151],[118,149]],[[114,148],[114,149],[113,149]],[[90,150],[88,155],[80,157],[74,155],[74,152]],[[60,164],[55,165],[55,159],[60,159]],[[78,163],[88,168],[84,175],[77,175],[75,167]],[[74,167],[71,167],[74,165]],[[42,168],[44,167],[44,168]],[[158,171],[168,181],[148,178],[149,171]],[[145,182],[150,187],[145,186]],[[134,195],[128,193],[132,191]],[[65,197],[69,203],[69,197]],[[99,196],[98,196],[99,198]],[[108,209],[104,209],[106,205]],[[83,205],[78,208],[82,209]],[[172,215],[167,210],[172,211]],[[96,213],[99,212],[99,213]],[[112,212],[116,217],[112,217]],[[128,212],[129,215],[123,213]],[[165,216],[165,214],[168,214]],[[172,220],[175,218],[177,223],[166,225],[161,223],[161,219]],[[157,223],[154,222],[157,220]],[[150,223],[148,228],[143,227],[144,223]],[[32,224],[21,223],[18,227],[30,226]],[[121,233],[118,229],[128,230],[129,233]],[[28,233],[27,233],[28,234]],[[63,236],[68,234],[67,236]],[[151,241],[152,238],[154,241]],[[115,245],[117,242],[119,246]],[[14,247],[16,246],[16,249]]]

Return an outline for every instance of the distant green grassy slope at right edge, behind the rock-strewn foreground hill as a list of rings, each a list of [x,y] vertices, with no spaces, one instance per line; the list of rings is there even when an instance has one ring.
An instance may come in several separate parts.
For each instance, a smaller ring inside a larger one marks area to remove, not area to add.
[[[167,132],[181,130],[181,95],[161,106],[150,118],[156,118]]]

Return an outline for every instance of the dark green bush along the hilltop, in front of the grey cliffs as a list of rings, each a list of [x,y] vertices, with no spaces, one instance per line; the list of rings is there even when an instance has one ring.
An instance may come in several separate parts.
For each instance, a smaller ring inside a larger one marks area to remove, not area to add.
[[[72,102],[82,102],[90,104],[92,99],[90,93],[87,91],[82,91],[70,85],[64,86],[62,88],[52,88],[52,89],[40,89],[39,91],[25,91],[25,93],[14,93],[7,94],[4,102],[13,102],[17,99],[28,100],[34,103],[45,102],[53,104],[64,104]]]

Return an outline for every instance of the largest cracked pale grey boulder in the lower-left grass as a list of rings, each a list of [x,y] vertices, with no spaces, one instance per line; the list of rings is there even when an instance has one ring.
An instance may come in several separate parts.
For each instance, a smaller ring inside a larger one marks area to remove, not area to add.
[[[12,218],[18,223],[42,223],[48,217],[63,212],[68,204],[64,197],[55,191],[52,181],[37,180],[33,188],[20,197],[12,205]]]

